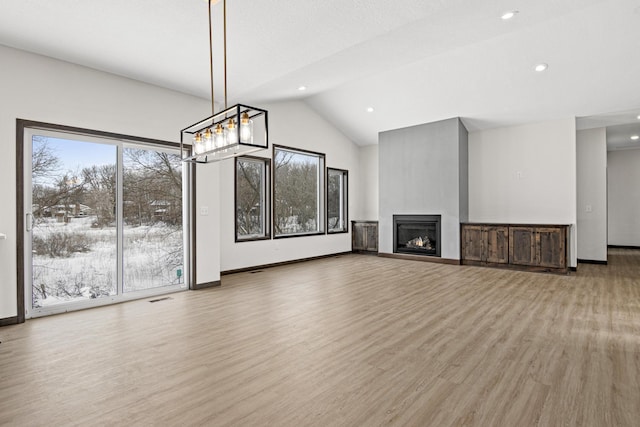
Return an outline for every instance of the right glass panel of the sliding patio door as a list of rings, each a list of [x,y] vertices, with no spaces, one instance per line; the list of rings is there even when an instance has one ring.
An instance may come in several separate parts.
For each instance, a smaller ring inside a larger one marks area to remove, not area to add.
[[[123,149],[123,291],[184,284],[178,153]]]

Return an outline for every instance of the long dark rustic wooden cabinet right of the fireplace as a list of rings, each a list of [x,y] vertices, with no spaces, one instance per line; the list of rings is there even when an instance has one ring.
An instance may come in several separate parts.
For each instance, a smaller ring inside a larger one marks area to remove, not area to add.
[[[568,225],[460,225],[462,264],[567,273]]]

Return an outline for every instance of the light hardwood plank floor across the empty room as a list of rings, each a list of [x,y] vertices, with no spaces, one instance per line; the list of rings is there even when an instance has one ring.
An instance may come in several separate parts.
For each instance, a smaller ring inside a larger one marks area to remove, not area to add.
[[[0,425],[638,426],[640,251],[344,255],[0,328]]]

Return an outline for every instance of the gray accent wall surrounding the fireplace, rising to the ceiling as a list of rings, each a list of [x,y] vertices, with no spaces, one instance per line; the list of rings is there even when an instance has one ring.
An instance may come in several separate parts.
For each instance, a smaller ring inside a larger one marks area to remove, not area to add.
[[[379,251],[393,252],[393,215],[441,215],[442,258],[460,259],[469,217],[468,133],[459,118],[379,134]]]

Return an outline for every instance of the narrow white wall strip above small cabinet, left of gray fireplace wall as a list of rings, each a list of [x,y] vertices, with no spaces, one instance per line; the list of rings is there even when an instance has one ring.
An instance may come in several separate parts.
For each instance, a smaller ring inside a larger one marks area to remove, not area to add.
[[[358,217],[363,221],[378,220],[378,145],[360,147],[360,191],[353,194],[361,207]]]

